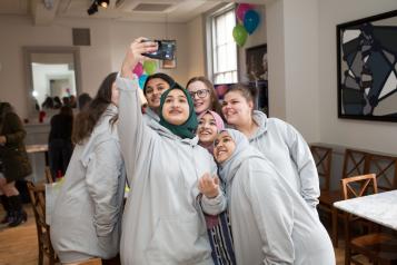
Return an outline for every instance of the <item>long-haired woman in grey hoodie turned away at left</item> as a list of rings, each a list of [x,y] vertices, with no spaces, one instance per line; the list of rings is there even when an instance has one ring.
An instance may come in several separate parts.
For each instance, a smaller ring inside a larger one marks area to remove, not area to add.
[[[105,78],[76,117],[76,147],[51,213],[51,243],[62,264],[110,259],[119,252],[126,171],[116,126],[116,76]]]

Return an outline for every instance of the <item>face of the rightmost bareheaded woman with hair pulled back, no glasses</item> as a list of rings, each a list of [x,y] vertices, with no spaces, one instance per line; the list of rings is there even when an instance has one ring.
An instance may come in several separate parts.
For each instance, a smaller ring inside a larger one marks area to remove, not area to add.
[[[222,114],[229,125],[241,126],[251,120],[254,102],[248,101],[239,91],[225,95]]]

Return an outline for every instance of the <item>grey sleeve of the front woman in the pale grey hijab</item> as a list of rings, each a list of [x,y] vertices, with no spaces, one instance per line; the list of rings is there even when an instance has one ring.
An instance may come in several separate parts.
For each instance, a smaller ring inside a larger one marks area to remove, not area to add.
[[[294,206],[271,167],[249,165],[244,181],[262,241],[264,264],[294,264]]]

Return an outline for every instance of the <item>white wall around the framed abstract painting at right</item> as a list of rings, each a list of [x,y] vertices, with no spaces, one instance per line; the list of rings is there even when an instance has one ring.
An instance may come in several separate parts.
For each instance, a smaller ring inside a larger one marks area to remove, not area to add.
[[[397,154],[397,124],[338,119],[336,65],[336,24],[395,9],[396,0],[318,1],[320,141]]]

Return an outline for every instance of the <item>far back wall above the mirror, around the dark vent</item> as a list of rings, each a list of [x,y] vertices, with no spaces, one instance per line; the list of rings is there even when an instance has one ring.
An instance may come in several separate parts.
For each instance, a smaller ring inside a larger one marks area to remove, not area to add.
[[[111,71],[117,71],[131,40],[139,36],[177,40],[177,68],[168,70],[185,84],[188,73],[186,24],[116,22],[100,19],[58,19],[51,27],[33,27],[24,17],[0,16],[0,100],[10,101],[21,118],[27,109],[23,46],[72,46],[71,28],[90,28],[91,46],[80,47],[82,91],[91,96]],[[159,69],[162,70],[162,69]]]

